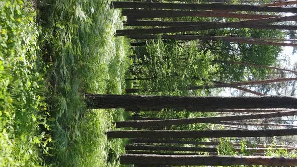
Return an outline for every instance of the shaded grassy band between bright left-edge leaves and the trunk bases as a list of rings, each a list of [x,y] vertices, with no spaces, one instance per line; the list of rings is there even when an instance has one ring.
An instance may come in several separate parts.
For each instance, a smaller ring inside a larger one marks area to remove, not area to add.
[[[120,11],[109,1],[42,1],[44,57],[52,64],[48,103],[55,140],[47,161],[58,166],[117,166],[123,141],[107,140],[123,110],[87,110],[84,93],[121,94],[126,52]]]

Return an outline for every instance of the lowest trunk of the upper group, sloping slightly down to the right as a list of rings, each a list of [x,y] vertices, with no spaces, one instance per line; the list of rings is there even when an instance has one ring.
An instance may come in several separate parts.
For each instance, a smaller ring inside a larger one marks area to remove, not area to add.
[[[135,35],[129,36],[132,39],[157,39],[157,35]],[[256,44],[256,45],[274,45],[274,46],[293,46],[296,47],[297,43],[283,43],[283,42],[271,42],[264,41],[260,38],[245,38],[245,37],[226,37],[226,36],[201,36],[201,35],[163,35],[162,39],[174,39],[174,40],[202,40],[202,41],[224,41],[224,42],[237,42],[245,44]]]

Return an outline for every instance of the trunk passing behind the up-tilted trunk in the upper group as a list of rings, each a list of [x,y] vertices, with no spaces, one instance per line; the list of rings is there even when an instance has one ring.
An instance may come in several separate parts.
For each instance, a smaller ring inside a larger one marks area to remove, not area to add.
[[[178,22],[178,21],[145,21],[145,20],[127,20],[125,26],[160,26],[160,27],[179,27],[214,24],[215,22]],[[239,28],[252,29],[270,29],[270,30],[297,30],[297,26],[291,25],[269,25],[269,24],[249,24]]]

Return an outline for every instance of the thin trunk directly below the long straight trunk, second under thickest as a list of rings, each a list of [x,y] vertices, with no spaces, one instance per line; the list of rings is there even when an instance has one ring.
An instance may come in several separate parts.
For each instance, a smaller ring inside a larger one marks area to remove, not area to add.
[[[205,141],[186,141],[186,140],[174,140],[174,139],[130,139],[133,143],[163,143],[163,144],[193,144],[193,145],[217,145],[218,142],[205,142]]]

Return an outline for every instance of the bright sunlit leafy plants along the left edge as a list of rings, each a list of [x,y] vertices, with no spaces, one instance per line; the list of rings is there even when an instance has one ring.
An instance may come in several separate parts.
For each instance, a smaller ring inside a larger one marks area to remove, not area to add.
[[[0,1],[0,166],[35,166],[48,154],[39,30],[27,1]]]

